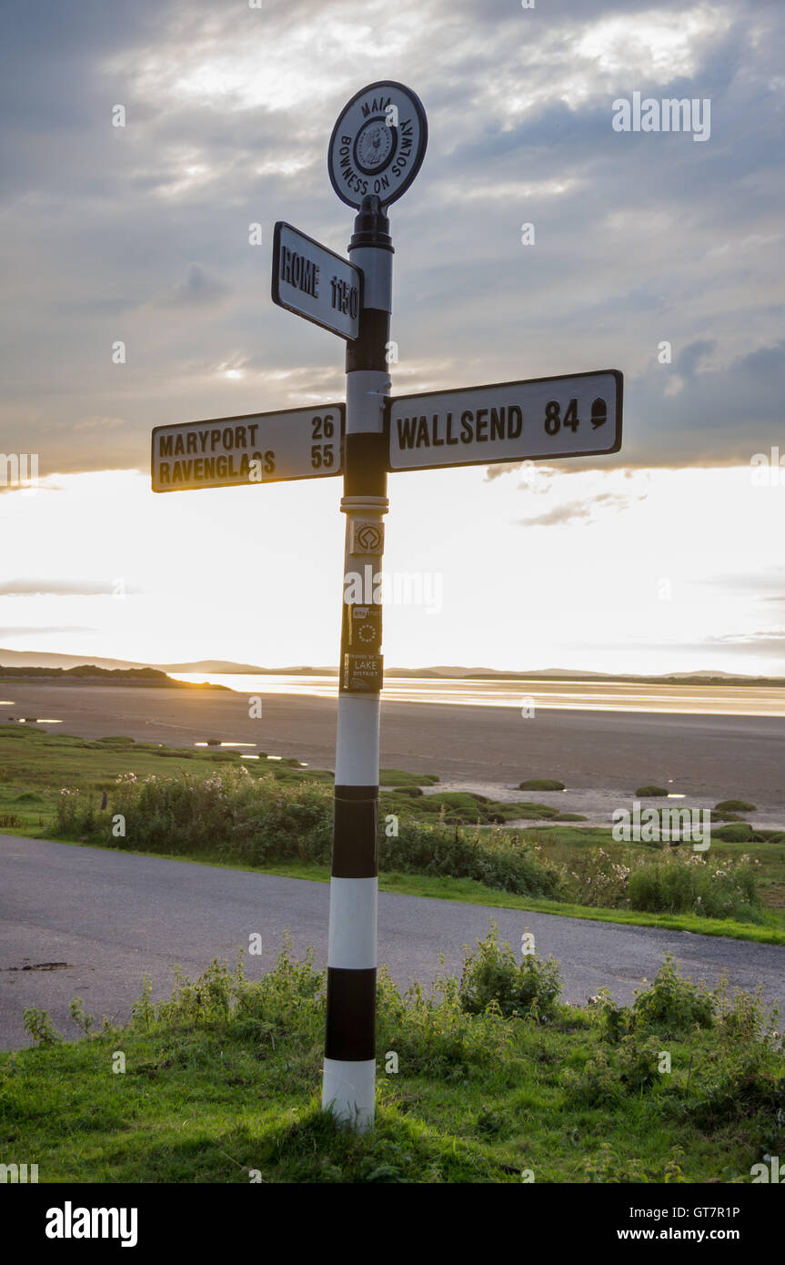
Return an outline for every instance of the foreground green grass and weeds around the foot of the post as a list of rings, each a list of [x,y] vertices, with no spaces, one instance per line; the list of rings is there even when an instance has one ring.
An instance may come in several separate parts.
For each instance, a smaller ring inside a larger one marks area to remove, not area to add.
[[[465,973],[502,997],[513,956],[492,932]],[[401,997],[382,972],[358,1136],[319,1106],[324,975],[288,951],[253,984],[214,964],[162,1006],[143,994],[125,1028],[0,1054],[3,1154],[35,1156],[42,1183],[238,1184],[750,1182],[782,1154],[785,1061],[755,998],[728,1009],[667,964],[632,1008],[556,999],[547,1022],[466,1012],[472,996]]]

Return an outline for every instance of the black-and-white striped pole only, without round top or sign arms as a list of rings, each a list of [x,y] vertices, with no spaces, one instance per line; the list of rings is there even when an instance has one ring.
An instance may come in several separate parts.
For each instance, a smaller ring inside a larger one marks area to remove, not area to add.
[[[356,1128],[373,1123],[377,988],[377,826],[382,607],[373,601],[384,545],[384,402],[392,242],[379,199],[364,200],[349,254],[363,269],[360,336],[346,347],[346,515],[335,817],[330,878],[322,1104]]]

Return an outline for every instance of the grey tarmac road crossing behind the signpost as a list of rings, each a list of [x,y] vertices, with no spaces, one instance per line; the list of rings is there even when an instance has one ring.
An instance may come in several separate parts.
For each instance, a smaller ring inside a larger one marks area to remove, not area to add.
[[[158,998],[171,990],[176,965],[192,978],[212,958],[234,961],[240,949],[255,978],[274,961],[287,930],[296,953],[313,946],[324,966],[327,910],[326,883],[0,835],[0,1049],[30,1044],[21,1026],[27,1006],[47,1009],[56,1028],[75,1037],[68,1007],[76,996],[97,1021],[123,1021],[144,974]],[[490,917],[513,947],[528,929],[539,954],[559,959],[570,1002],[603,985],[630,1002],[672,953],[693,979],[714,985],[726,968],[731,985],[761,983],[769,1001],[785,1006],[785,946],[387,892],[379,894],[379,961],[399,984],[430,983],[444,951],[446,969],[459,974],[463,945],[485,935]],[[248,954],[254,932],[263,939],[260,956]]]

